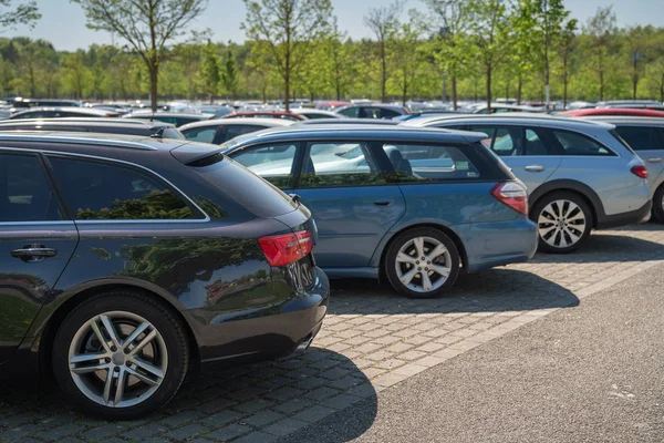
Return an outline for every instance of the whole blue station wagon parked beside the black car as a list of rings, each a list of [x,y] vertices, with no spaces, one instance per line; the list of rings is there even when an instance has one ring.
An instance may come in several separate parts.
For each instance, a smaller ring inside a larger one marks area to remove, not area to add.
[[[395,125],[294,125],[222,152],[312,210],[317,262],[331,278],[386,276],[413,298],[459,271],[528,260],[537,248],[526,188],[484,134]]]

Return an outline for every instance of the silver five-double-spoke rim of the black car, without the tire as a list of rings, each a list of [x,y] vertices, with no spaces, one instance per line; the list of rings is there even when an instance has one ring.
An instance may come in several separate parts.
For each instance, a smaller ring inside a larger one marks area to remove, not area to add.
[[[146,319],[108,311],[79,328],[69,348],[72,380],[86,398],[110,408],[128,408],[149,399],[168,365],[166,342]]]

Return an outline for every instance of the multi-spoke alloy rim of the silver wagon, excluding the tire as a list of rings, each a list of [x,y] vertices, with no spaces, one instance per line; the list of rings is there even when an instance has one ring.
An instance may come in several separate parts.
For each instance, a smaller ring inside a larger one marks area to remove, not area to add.
[[[553,248],[568,248],[583,238],[588,223],[583,209],[574,202],[559,199],[549,203],[538,216],[540,238]]]

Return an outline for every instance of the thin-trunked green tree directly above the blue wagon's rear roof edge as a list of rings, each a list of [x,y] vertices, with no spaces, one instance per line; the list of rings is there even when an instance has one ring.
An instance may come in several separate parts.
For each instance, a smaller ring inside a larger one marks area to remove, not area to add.
[[[507,0],[470,0],[470,39],[487,82],[487,112],[491,112],[491,75],[509,48]]]

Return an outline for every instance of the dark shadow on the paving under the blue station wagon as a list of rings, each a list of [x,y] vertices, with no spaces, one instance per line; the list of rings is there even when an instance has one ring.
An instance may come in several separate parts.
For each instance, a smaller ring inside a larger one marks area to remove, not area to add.
[[[499,268],[460,276],[448,296],[423,300],[405,298],[386,282],[332,280],[329,313],[504,312],[577,305],[577,296],[560,285],[531,272]]]

